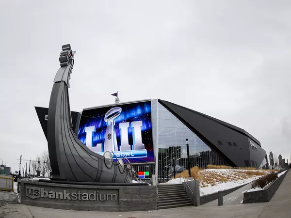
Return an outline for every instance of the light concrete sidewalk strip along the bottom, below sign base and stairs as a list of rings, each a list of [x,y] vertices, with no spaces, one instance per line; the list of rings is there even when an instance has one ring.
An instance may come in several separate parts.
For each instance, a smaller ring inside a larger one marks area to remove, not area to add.
[[[210,207],[178,207],[157,211],[91,212],[49,209],[24,204],[0,207],[0,218],[258,218],[267,203],[237,204]]]

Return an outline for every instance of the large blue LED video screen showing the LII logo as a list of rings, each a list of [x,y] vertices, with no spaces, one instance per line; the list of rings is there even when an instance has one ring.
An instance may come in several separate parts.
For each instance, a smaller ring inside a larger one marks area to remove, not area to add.
[[[154,162],[151,101],[83,110],[78,138],[91,151],[113,160]]]

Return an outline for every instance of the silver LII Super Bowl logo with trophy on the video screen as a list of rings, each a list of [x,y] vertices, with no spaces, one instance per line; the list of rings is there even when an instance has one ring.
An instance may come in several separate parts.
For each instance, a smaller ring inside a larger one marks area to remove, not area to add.
[[[98,143],[96,147],[93,147],[93,134],[96,131],[96,126],[85,127],[86,147],[100,155],[103,155],[103,153],[106,151],[113,152],[117,158],[123,156],[127,158],[147,157],[145,144],[143,144],[142,141],[141,127],[143,125],[143,121],[119,123],[120,146],[118,150],[115,120],[119,117],[121,111],[122,109],[120,107],[114,107],[108,110],[105,114],[104,121],[107,123],[107,128],[104,144]],[[132,128],[132,145],[129,145],[129,128]]]

